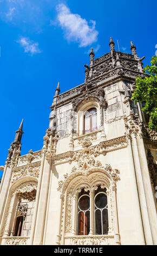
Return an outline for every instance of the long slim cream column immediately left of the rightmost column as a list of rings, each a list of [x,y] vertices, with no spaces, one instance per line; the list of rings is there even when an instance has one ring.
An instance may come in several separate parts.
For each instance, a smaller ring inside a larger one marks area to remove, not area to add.
[[[149,224],[148,212],[147,212],[147,204],[146,204],[146,194],[143,187],[143,180],[141,174],[141,167],[140,167],[140,160],[139,160],[139,153],[138,147],[136,144],[136,138],[132,135],[132,148],[133,148],[133,157],[135,163],[135,172],[136,172],[136,180],[138,185],[138,192],[139,192],[139,199],[140,199],[140,206],[141,206],[141,215],[142,215],[142,222],[143,222],[143,229],[145,234],[146,245],[152,245],[152,234]]]

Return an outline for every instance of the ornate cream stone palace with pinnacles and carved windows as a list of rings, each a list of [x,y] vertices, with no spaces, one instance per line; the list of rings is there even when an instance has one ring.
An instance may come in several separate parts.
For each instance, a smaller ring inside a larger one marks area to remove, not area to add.
[[[110,51],[51,105],[43,148],[21,156],[23,121],[0,185],[1,245],[157,245],[156,133],[134,103],[142,59]],[[30,145],[31,147],[31,145]]]

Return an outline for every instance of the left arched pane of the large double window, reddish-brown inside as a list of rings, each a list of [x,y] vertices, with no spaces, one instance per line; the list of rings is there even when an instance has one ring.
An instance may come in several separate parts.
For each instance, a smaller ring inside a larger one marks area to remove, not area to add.
[[[77,214],[77,235],[88,235],[90,229],[90,198],[89,191],[85,192],[84,189],[78,194]]]

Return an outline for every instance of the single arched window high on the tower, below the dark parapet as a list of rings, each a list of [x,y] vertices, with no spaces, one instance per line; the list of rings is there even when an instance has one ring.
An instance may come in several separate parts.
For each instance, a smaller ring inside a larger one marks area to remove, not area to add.
[[[97,130],[97,111],[90,108],[84,114],[84,134]]]

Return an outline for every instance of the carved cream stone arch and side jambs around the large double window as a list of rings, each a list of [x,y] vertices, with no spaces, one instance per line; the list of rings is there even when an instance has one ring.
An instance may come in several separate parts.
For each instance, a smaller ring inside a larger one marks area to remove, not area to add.
[[[62,213],[61,230],[58,237],[76,235],[76,200],[77,194],[84,188],[86,191],[94,191],[97,186],[105,187],[107,190],[109,204],[109,234],[114,234],[114,204],[116,204],[115,190],[116,181],[119,179],[119,170],[112,169],[109,164],[105,167],[82,167],[82,169],[71,170],[70,174],[64,175],[65,180],[59,181],[58,190],[61,191]],[[75,220],[74,220],[75,219]],[[115,218],[116,220],[116,218]],[[63,223],[64,227],[63,227]]]

